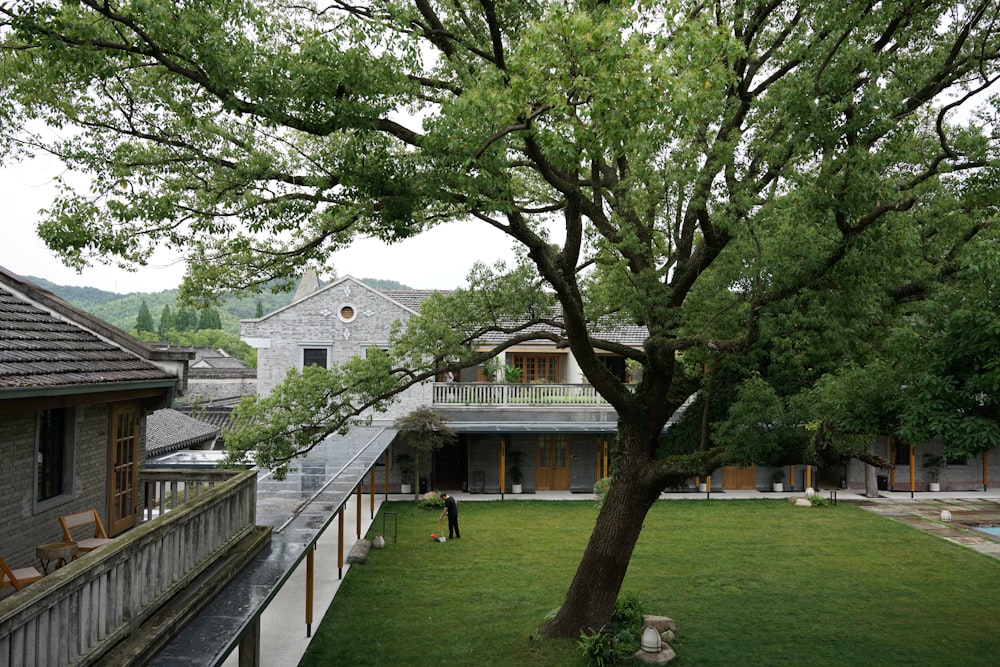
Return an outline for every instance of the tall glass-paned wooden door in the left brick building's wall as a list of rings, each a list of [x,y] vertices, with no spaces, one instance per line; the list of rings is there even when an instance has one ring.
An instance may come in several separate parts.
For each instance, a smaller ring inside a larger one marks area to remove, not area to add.
[[[111,493],[108,535],[117,535],[136,522],[139,487],[139,404],[111,406]]]

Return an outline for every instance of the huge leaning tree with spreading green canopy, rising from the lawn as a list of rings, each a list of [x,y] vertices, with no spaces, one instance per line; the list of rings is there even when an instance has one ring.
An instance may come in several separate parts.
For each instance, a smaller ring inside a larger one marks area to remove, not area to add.
[[[545,628],[577,636],[610,618],[664,486],[733,456],[704,436],[661,453],[671,413],[707,388],[702,364],[731,365],[736,383],[763,367],[773,391],[749,387],[730,413],[787,411],[824,375],[880,358],[847,341],[901,326],[967,246],[995,243],[997,100],[983,93],[998,11],[0,0],[0,150],[92,175],[39,228],[65,261],[174,246],[191,297],[291,280],[356,235],[443,220],[519,243],[521,264],[477,267],[388,351],[245,402],[227,443],[280,472],[437,373],[529,340],[567,345],[619,420],[614,481]],[[31,134],[35,119],[79,132]],[[600,340],[598,321],[648,338]],[[506,342],[478,352],[491,332]],[[642,366],[634,390],[598,349]]]

